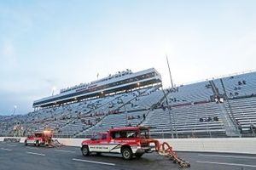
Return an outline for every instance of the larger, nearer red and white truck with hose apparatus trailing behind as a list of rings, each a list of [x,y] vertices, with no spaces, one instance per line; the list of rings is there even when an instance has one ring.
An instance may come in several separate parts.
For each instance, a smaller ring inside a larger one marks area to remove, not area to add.
[[[125,160],[157,151],[181,167],[190,167],[189,162],[179,158],[169,144],[150,139],[148,127],[110,128],[107,133],[97,133],[93,138],[84,140],[81,150],[84,156],[89,156],[91,152],[119,153]]]

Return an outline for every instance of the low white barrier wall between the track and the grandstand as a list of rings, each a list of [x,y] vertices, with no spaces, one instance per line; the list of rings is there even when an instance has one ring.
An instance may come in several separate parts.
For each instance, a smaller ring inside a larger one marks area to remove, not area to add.
[[[20,139],[23,137],[0,137],[3,139]],[[68,146],[81,146],[84,139],[57,139]],[[221,139],[159,139],[160,143],[167,142],[177,151],[225,152],[256,154],[256,138],[221,138]]]

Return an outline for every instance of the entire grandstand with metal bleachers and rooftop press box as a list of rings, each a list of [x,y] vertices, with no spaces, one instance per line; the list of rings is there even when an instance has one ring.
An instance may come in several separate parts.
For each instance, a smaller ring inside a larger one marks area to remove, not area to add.
[[[255,137],[255,94],[256,72],[163,89],[154,69],[127,70],[36,100],[26,115],[0,116],[0,134],[51,127],[55,137],[85,138],[143,125],[156,138]]]

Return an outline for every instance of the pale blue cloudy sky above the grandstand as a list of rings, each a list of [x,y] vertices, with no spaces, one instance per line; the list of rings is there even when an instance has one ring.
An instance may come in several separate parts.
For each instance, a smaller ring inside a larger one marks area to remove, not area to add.
[[[125,69],[170,87],[166,55],[177,85],[255,70],[256,1],[0,0],[0,115]]]

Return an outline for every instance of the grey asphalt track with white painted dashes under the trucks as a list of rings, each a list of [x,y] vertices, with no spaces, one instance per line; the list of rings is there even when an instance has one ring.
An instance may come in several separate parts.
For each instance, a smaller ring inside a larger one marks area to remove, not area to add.
[[[189,170],[256,170],[255,155],[177,152],[190,162]],[[0,142],[1,170],[170,170],[180,169],[156,153],[124,161],[120,155],[82,156],[78,147],[45,148]]]

